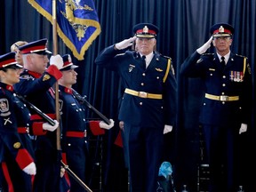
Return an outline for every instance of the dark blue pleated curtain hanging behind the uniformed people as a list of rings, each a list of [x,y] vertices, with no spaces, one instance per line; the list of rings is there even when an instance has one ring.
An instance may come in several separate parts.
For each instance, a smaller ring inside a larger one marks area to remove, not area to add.
[[[132,26],[151,22],[160,28],[157,36],[158,52],[172,58],[178,82],[178,119],[172,133],[166,135],[166,160],[173,164],[176,188],[187,184],[191,191],[197,188],[197,166],[200,164],[199,105],[202,99],[199,79],[180,78],[180,65],[189,54],[210,37],[209,28],[217,22],[228,22],[235,28],[232,51],[248,57],[252,64],[255,87],[255,0],[95,0],[99,14],[101,34],[85,52],[84,60],[73,59],[79,65],[77,92],[87,95],[95,108],[116,122],[104,137],[102,161],[102,191],[127,190],[127,170],[123,148],[114,144],[118,133],[119,77],[115,73],[97,68],[93,61],[110,44],[133,36]],[[0,53],[10,52],[10,45],[18,40],[28,42],[47,37],[52,51],[52,26],[26,0],[4,0],[0,6]],[[213,48],[210,49],[213,52]],[[58,52],[71,52],[58,40]],[[72,55],[72,54],[71,54]],[[253,88],[254,94],[254,88]],[[254,96],[253,96],[254,97]],[[255,103],[252,103],[255,110]],[[246,150],[244,186],[252,190],[249,177],[255,170],[254,114],[252,125],[241,139]],[[97,117],[88,110],[88,118]],[[255,189],[253,188],[255,191]]]

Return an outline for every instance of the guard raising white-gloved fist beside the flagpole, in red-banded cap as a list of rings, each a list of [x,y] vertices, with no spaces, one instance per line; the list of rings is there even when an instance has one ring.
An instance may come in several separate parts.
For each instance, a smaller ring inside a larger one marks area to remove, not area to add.
[[[63,60],[60,55],[52,56],[48,66],[47,39],[40,39],[19,47],[22,53],[24,71],[20,83],[14,88],[26,100],[40,108],[44,114],[55,119],[53,126],[38,123],[31,131],[35,137],[36,177],[34,191],[59,191],[60,187],[60,150],[57,148],[55,96],[53,84],[62,76],[60,68]],[[31,110],[31,119],[44,122],[41,116]],[[61,124],[60,124],[61,130]]]

